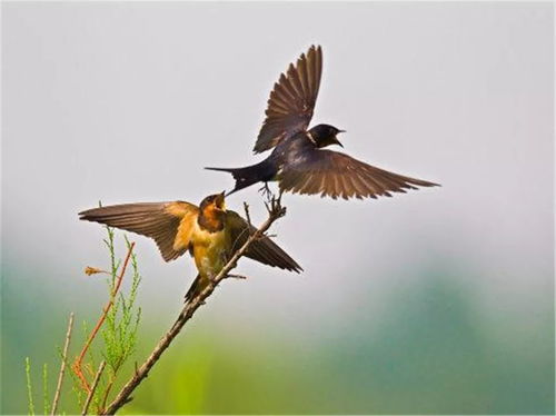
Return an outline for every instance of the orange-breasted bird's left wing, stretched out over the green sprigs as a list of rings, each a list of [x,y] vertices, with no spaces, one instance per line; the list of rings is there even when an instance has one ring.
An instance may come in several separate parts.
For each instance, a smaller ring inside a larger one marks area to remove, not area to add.
[[[106,224],[152,238],[166,261],[189,246],[199,208],[189,202],[143,202],[100,207],[79,212],[79,219]]]

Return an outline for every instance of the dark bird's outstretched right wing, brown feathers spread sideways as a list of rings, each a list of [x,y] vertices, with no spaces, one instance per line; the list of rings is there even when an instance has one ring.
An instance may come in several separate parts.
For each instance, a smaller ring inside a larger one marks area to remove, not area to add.
[[[417,186],[438,186],[375,168],[337,151],[319,149],[307,150],[287,164],[279,181],[282,191],[320,194],[334,199],[391,197],[390,192],[405,192]]]

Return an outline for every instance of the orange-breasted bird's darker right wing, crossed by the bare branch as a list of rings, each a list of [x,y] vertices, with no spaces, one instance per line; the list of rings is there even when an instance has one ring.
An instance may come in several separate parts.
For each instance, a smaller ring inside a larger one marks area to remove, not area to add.
[[[250,227],[249,224],[241,218],[237,212],[227,211],[227,227],[231,235],[231,246],[232,252],[240,249],[241,246],[247,241],[249,235],[256,231],[255,227]],[[270,238],[262,237],[251,242],[246,256],[260,261],[265,265],[279,267],[280,269],[292,270],[299,273],[301,266],[299,266],[296,260],[288,256],[278,245],[276,245]]]

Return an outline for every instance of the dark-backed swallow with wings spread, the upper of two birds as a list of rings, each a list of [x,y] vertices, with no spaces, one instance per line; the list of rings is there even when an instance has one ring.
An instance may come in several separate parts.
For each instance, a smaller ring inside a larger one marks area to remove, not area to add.
[[[255,153],[274,148],[268,158],[245,168],[206,168],[234,176],[236,186],[229,194],[257,182],[265,182],[268,190],[267,182],[272,180],[278,181],[280,191],[320,194],[334,199],[390,197],[390,192],[405,192],[417,186],[437,186],[376,168],[345,153],[322,150],[331,145],[344,147],[337,138],[344,130],[329,125],[308,129],[321,72],[322,51],[312,46],[275,83],[254,148]]]

